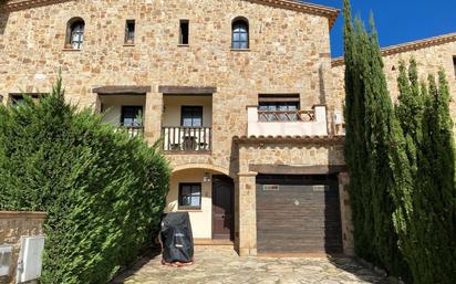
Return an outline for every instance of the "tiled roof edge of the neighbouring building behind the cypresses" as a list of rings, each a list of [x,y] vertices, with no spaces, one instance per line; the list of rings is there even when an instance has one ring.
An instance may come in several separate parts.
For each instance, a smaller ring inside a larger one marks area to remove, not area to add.
[[[447,33],[438,36],[427,38],[424,40],[411,41],[405,42],[396,45],[391,45],[386,48],[382,48],[382,55],[388,56],[394,55],[397,53],[408,52],[408,51],[416,51],[429,46],[441,45],[448,42],[456,41],[456,32],[455,33]],[[332,66],[341,66],[344,64],[343,56],[336,57],[332,60]]]

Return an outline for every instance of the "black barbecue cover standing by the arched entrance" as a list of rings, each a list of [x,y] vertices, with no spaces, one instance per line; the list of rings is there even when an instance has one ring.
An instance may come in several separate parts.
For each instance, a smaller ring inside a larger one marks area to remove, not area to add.
[[[191,262],[194,238],[188,212],[165,213],[162,218],[160,239],[165,262]]]

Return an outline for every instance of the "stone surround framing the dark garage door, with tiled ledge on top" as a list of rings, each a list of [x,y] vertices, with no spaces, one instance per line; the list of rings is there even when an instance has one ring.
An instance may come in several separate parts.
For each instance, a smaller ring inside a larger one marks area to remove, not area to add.
[[[240,255],[257,255],[256,176],[252,165],[340,166],[344,165],[341,143],[241,141],[239,143],[239,175],[236,182],[237,246]],[[340,197],[343,248],[353,254],[351,212],[348,193],[344,191],[346,173],[340,173]]]

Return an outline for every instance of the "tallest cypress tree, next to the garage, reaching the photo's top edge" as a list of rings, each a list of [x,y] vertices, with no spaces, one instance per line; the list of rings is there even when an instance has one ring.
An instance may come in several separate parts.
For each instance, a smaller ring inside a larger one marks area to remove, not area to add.
[[[398,188],[408,187],[410,181],[404,141],[387,92],[373,20],[371,34],[359,19],[353,27],[349,0],[344,0],[344,152],[355,250],[392,274],[406,274],[392,218],[396,210],[392,192],[402,191]]]

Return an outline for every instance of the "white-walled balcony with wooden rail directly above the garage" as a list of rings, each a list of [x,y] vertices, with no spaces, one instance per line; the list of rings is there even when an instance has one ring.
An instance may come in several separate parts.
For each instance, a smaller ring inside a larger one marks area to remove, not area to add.
[[[328,135],[327,107],[309,111],[259,111],[247,107],[248,136],[324,136]]]

